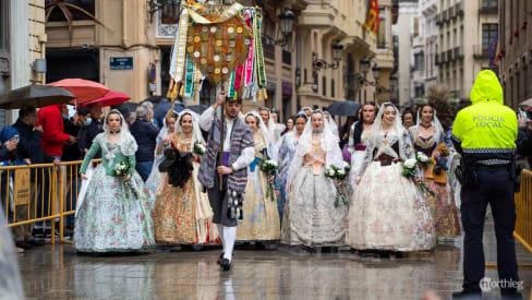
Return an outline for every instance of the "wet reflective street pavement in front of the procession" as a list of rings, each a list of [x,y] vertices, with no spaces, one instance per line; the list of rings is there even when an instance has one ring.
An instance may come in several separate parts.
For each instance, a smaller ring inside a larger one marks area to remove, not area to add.
[[[486,226],[486,263],[495,263],[492,226]],[[220,272],[217,248],[153,254],[77,255],[69,244],[19,254],[27,299],[420,299],[433,289],[450,299],[461,288],[461,239],[433,252],[403,259],[361,257],[350,251],[298,253],[288,250],[234,252],[233,268]],[[517,242],[518,261],[532,263]],[[529,299],[532,268],[520,268]],[[497,278],[496,269],[486,277]],[[498,290],[484,293],[497,299]]]

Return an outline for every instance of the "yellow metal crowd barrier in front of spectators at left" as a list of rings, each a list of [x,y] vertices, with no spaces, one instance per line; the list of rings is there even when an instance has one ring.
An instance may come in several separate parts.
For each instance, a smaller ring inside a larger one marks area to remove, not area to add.
[[[94,159],[97,165],[101,159]],[[56,243],[56,221],[59,220],[59,241],[64,239],[65,217],[75,214],[81,189],[82,160],[53,164],[0,167],[0,202],[5,219],[13,230],[31,230],[24,225],[46,223],[51,225],[50,242]],[[60,201],[58,201],[60,200]],[[72,216],[73,218],[73,216]],[[20,227],[17,229],[13,227]],[[32,232],[29,232],[31,235]]]

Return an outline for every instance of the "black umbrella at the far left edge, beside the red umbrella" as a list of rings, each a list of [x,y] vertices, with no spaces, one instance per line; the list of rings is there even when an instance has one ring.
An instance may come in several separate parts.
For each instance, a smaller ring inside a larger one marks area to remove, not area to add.
[[[17,109],[24,106],[45,107],[56,104],[66,104],[75,99],[69,91],[50,85],[31,84],[8,92],[0,97],[1,109]]]

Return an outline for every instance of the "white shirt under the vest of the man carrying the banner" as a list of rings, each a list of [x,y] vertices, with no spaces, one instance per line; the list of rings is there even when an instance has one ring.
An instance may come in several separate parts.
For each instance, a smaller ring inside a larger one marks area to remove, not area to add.
[[[200,116],[200,128],[204,131],[210,131],[213,125],[213,119],[215,118],[215,109],[210,106],[207,108],[202,116]],[[226,118],[227,132],[232,132],[232,127],[234,125],[234,120],[228,120]],[[223,135],[223,149],[231,148],[231,134]],[[251,165],[255,160],[255,147],[245,147],[240,157],[232,165],[234,170],[243,169]]]

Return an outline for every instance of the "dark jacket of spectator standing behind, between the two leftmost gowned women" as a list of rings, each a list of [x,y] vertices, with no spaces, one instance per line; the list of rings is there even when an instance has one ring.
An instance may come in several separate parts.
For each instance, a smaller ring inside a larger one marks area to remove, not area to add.
[[[135,154],[136,161],[153,161],[159,130],[145,119],[137,118],[130,127],[130,131],[138,145]]]

